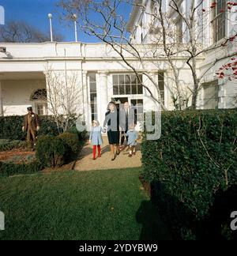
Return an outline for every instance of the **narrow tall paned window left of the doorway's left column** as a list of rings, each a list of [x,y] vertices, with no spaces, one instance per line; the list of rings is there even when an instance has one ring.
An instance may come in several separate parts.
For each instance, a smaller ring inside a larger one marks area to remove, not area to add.
[[[90,100],[91,100],[92,121],[93,121],[95,119],[98,119],[96,73],[90,73],[88,77],[89,77],[89,85],[90,85]]]

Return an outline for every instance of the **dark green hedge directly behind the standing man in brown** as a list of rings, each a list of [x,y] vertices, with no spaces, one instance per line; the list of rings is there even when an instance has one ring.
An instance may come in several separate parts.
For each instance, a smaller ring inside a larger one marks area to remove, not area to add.
[[[23,115],[0,117],[0,139],[24,140],[26,133],[21,130],[23,119]],[[50,116],[40,116],[40,126],[39,136],[58,135],[56,123]]]

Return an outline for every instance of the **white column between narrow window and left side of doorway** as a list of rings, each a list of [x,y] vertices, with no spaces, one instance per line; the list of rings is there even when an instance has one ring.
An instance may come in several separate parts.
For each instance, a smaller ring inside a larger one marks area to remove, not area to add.
[[[103,125],[104,116],[107,111],[108,104],[108,85],[107,85],[107,72],[99,71],[99,81],[97,81],[97,102],[98,102],[98,119],[100,124]]]

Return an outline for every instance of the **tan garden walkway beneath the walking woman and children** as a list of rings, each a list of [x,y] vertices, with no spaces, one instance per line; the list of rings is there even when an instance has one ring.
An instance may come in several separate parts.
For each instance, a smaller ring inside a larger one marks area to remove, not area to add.
[[[119,156],[117,156],[114,161],[111,161],[110,145],[108,145],[107,137],[103,137],[102,157],[96,160],[92,160],[92,145],[86,142],[74,169],[76,171],[92,171],[141,167],[140,142],[141,141],[137,141],[137,152],[135,156],[130,158],[129,151],[125,149],[120,152]]]

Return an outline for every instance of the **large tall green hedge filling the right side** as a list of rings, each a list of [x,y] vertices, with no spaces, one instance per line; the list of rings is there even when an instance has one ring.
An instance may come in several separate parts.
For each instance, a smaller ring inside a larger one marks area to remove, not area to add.
[[[179,235],[197,238],[216,194],[237,183],[237,111],[164,112],[161,126],[157,141],[143,134],[143,179]]]

